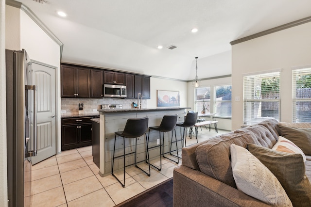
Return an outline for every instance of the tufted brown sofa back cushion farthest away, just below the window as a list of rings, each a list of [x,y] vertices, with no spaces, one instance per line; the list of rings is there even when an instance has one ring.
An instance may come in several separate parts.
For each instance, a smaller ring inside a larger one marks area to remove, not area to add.
[[[271,129],[272,130],[272,129]],[[273,130],[272,130],[273,131]],[[272,133],[264,125],[255,125],[252,127],[246,127],[235,130],[234,133],[247,133],[250,134],[254,140],[257,140],[256,144],[272,148],[276,144],[278,135]]]

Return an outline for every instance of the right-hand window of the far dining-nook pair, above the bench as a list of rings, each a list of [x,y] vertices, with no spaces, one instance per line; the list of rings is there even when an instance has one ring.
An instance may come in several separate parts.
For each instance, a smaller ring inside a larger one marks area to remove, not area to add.
[[[214,113],[218,117],[231,117],[231,85],[214,87]]]

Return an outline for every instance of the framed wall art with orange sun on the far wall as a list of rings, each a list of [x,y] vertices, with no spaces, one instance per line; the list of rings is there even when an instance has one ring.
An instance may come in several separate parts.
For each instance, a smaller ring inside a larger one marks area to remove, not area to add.
[[[157,90],[157,107],[179,107],[180,92],[179,91],[162,91]]]

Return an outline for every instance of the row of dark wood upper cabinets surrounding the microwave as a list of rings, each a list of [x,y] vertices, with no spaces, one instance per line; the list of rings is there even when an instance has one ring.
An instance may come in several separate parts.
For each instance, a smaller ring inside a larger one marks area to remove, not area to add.
[[[61,64],[62,98],[103,98],[103,85],[126,85],[126,98],[150,99],[150,76]]]

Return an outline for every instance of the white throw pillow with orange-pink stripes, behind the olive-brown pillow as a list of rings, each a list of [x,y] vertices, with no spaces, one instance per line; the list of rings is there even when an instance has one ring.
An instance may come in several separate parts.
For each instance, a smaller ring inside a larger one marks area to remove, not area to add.
[[[278,152],[298,153],[302,155],[304,161],[307,160],[305,154],[296,144],[282,136],[278,136],[277,143],[272,149]]]

